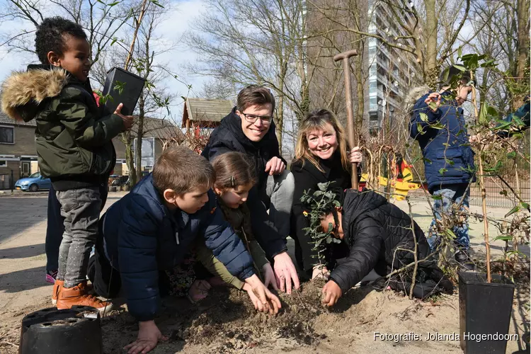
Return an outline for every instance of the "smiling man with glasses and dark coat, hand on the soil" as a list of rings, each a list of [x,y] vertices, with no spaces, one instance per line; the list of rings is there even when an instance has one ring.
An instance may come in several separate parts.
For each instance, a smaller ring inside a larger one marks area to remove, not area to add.
[[[211,160],[225,152],[241,152],[254,162],[258,182],[247,199],[253,232],[273,261],[276,285],[290,294],[292,282],[299,287],[286,246],[295,181],[286,169],[275,135],[275,98],[264,86],[251,85],[238,93],[236,104],[210,135],[202,156]]]

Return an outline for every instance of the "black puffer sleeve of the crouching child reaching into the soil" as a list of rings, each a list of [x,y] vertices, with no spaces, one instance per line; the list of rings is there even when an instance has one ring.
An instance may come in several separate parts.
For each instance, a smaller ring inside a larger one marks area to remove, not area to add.
[[[354,239],[350,254],[330,275],[330,279],[336,282],[343,292],[356,285],[375,268],[384,239],[384,230],[370,217],[355,222],[349,231]]]

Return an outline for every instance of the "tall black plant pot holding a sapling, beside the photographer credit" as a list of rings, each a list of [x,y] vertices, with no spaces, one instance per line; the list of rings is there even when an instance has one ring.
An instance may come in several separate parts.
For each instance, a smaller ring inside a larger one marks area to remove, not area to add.
[[[459,273],[459,337],[464,354],[505,354],[513,282],[501,275]]]

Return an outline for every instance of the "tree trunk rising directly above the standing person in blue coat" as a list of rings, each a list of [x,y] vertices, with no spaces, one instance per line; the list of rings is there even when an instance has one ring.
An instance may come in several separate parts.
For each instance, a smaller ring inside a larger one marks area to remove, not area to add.
[[[426,66],[424,79],[430,89],[436,89],[439,80],[439,67],[437,63],[437,28],[438,18],[435,11],[435,0],[424,0],[426,6]]]

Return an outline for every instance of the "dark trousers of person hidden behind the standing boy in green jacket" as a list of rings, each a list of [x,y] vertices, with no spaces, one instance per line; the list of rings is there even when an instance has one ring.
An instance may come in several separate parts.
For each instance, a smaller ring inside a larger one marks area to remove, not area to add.
[[[101,209],[105,207],[107,201],[107,183],[106,179],[100,186]],[[61,204],[55,195],[53,185],[50,185],[48,193],[48,218],[46,226],[46,270],[55,271],[59,269],[59,246],[64,234],[64,217],[61,216]]]

